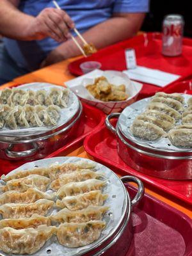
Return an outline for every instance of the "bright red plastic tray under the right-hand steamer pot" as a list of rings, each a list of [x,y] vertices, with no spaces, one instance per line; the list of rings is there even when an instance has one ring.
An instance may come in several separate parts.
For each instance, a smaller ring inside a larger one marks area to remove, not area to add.
[[[111,124],[115,125],[116,120],[111,120]],[[116,173],[119,173],[120,175],[135,175],[143,180],[143,182],[150,184],[150,186],[154,186],[156,189],[160,189],[165,193],[192,205],[191,181],[158,179],[138,172],[122,161],[118,156],[116,147],[116,137],[105,125],[102,125],[102,127],[87,136],[84,140],[84,148],[86,152],[100,163],[109,166]]]

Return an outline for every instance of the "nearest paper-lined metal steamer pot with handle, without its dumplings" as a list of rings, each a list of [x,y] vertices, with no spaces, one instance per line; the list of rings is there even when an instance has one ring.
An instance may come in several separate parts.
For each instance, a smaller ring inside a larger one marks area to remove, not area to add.
[[[34,166],[44,167],[53,163],[76,163],[79,160],[95,163],[89,159],[79,157],[52,157],[24,164],[10,173],[20,170],[28,170]],[[57,256],[125,256],[127,252],[132,255],[132,207],[136,205],[144,195],[143,183],[140,179],[132,176],[125,176],[121,179],[106,166],[95,163],[95,172],[106,175],[107,186],[103,193],[109,195],[104,205],[109,205],[109,210],[104,214],[103,220],[106,221],[106,228],[102,230],[99,239],[92,244],[80,248],[67,248],[57,242],[56,237],[47,241],[39,252],[34,256],[57,255]],[[138,192],[131,200],[124,184],[135,182],[138,185]],[[50,193],[50,191],[47,191]],[[54,212],[55,210],[53,210]],[[51,213],[52,214],[52,213]],[[8,256],[0,251],[0,255]]]

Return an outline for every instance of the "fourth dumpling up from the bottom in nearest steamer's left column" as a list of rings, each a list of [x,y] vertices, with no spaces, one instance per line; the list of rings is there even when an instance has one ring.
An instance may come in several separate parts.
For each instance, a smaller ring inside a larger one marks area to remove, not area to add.
[[[0,205],[8,203],[34,203],[39,199],[54,200],[55,193],[47,194],[35,188],[29,188],[26,192],[7,191],[0,195]]]

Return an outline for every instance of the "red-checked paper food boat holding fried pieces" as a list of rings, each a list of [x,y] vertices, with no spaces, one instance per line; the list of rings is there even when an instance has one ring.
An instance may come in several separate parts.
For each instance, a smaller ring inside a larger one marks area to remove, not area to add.
[[[109,83],[115,84],[119,86],[120,84],[125,84],[126,93],[129,95],[127,100],[123,101],[111,101],[111,102],[104,102],[101,100],[95,99],[89,92],[86,90],[86,86],[88,84],[93,84],[95,78],[104,76],[108,79]],[[76,79],[72,79],[65,83],[77,96],[84,102],[95,106],[107,115],[109,113],[115,113],[122,111],[126,106],[132,104],[138,93],[140,93],[142,84],[131,81],[129,77],[122,72],[118,71],[102,71],[102,70],[94,70],[86,75],[81,77],[77,77]]]

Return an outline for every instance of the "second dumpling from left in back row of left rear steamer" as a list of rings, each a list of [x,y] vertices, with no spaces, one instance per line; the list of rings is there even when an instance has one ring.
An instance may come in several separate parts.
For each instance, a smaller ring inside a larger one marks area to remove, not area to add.
[[[24,104],[26,104],[26,93],[26,91],[19,88],[13,88],[12,93],[8,98],[8,104],[13,107],[17,105],[23,106]]]

